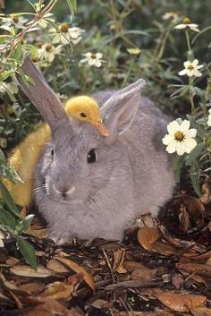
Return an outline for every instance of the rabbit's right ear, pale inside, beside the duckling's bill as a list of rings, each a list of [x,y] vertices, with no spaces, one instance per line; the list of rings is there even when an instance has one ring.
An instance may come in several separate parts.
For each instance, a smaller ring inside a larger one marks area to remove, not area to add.
[[[140,100],[140,90],[146,85],[143,79],[117,91],[101,108],[105,126],[111,134],[122,134],[128,130],[137,113]]]

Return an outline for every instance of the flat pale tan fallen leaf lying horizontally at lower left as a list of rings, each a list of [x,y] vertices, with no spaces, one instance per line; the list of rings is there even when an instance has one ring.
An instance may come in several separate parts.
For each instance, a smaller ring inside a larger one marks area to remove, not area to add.
[[[30,278],[47,278],[54,276],[55,274],[44,268],[43,266],[38,266],[37,270],[30,268],[29,266],[17,265],[10,269],[13,274],[21,277],[30,277]]]

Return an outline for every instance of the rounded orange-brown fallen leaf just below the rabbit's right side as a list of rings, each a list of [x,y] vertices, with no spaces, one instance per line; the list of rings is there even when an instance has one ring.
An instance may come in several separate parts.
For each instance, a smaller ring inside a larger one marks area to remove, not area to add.
[[[139,228],[138,232],[138,240],[139,244],[149,252],[153,250],[153,243],[156,242],[158,238],[160,238],[161,234],[156,228]]]

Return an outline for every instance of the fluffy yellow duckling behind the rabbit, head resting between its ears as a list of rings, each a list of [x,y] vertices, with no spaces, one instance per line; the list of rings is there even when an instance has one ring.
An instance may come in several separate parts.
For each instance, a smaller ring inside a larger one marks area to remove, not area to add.
[[[81,122],[89,123],[97,131],[108,136],[109,131],[102,124],[100,110],[93,98],[81,96],[72,98],[65,105],[65,112]],[[43,149],[50,141],[51,132],[47,124],[42,124],[31,132],[12,152],[9,164],[20,175],[24,184],[13,184],[4,179],[4,184],[16,204],[29,206],[33,201],[34,173]]]

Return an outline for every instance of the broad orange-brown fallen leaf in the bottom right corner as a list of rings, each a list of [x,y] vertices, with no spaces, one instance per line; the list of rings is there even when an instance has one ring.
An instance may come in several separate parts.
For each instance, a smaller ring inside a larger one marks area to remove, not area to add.
[[[175,312],[189,312],[190,309],[201,306],[207,300],[202,295],[181,295],[175,293],[161,293],[156,295],[157,299],[165,306]]]

